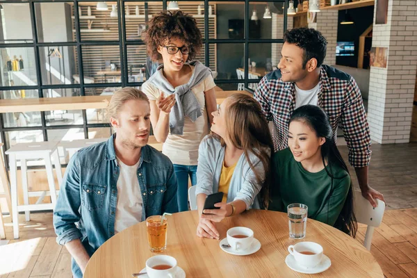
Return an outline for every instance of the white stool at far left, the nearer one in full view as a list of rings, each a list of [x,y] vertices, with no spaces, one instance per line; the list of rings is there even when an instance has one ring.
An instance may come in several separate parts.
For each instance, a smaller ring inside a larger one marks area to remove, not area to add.
[[[63,181],[63,173],[58,156],[56,145],[58,142],[31,142],[18,143],[7,150],[10,163],[10,187],[13,206],[13,234],[15,238],[19,238],[19,211],[24,211],[26,221],[31,220],[30,211],[43,211],[55,208],[56,189],[54,182],[54,172],[52,168],[51,158],[54,161],[56,177],[58,183]],[[28,176],[26,161],[31,159],[44,159],[45,169],[47,170],[47,178],[49,184],[49,193],[46,191],[28,192]],[[17,163],[20,160],[20,169],[22,170],[22,189],[24,197],[24,205],[18,204],[17,198]],[[45,196],[51,196],[50,204],[41,204]],[[39,197],[36,204],[29,204],[29,197]]]

